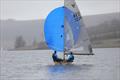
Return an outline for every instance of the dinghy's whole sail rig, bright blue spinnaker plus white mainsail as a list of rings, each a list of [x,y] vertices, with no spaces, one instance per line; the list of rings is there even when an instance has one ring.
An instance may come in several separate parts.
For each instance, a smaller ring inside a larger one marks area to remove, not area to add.
[[[75,0],[64,0],[64,6],[51,11],[44,24],[45,41],[49,49],[65,55],[93,55],[91,42]]]

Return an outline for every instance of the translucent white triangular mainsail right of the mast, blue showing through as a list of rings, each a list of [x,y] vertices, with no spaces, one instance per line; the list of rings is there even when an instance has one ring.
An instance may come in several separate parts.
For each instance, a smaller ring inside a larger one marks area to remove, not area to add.
[[[87,29],[84,26],[83,19],[75,0],[65,0],[64,6],[65,50],[73,52],[77,51],[79,53],[92,53]]]

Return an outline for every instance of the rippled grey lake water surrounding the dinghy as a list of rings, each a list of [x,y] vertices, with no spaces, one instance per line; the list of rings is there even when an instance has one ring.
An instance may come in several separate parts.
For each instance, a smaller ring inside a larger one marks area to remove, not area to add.
[[[120,80],[120,48],[93,51],[70,65],[55,65],[49,50],[3,51],[0,80]]]

